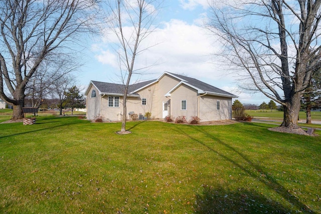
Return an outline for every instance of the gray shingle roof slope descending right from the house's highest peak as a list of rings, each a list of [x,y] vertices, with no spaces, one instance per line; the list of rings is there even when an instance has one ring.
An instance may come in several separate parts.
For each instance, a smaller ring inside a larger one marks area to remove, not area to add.
[[[170,72],[168,72],[168,73],[170,73]],[[202,81],[199,81],[197,79],[194,79],[194,78],[191,78],[191,77],[186,77],[186,76],[179,75],[179,74],[173,74],[173,73],[170,73],[170,74],[185,80],[188,84],[193,85],[196,88],[199,88],[199,89],[201,89],[201,90],[203,90],[205,92],[213,92],[215,94],[224,94],[224,95],[228,95],[228,96],[235,96],[234,94],[231,94],[231,93],[229,93],[227,91],[224,91],[222,89],[216,88],[216,87],[214,87],[212,85],[209,85],[209,84],[207,84],[205,82],[202,82]]]

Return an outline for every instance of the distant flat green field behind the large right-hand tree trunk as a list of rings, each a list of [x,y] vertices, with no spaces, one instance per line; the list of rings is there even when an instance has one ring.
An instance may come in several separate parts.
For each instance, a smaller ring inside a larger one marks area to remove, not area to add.
[[[277,111],[277,110],[246,110],[246,113],[248,113],[251,116],[254,117],[268,117],[268,118],[278,118],[283,119],[283,112]],[[311,111],[311,118],[312,120],[321,120],[321,111]],[[305,111],[299,112],[299,119],[305,120],[306,119],[306,113]]]

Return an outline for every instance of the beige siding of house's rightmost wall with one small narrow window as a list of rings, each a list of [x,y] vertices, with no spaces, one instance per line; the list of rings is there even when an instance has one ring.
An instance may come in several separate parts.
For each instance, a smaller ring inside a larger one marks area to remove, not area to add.
[[[199,99],[202,121],[232,119],[232,98],[205,95]],[[220,110],[217,110],[217,101],[220,101]]]

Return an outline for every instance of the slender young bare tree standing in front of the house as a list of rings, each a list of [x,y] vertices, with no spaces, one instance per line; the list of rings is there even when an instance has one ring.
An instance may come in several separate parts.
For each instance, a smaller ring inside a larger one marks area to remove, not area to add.
[[[141,74],[145,68],[135,68],[136,57],[148,47],[141,43],[154,31],[152,25],[161,1],[116,0],[108,2],[110,30],[119,41],[118,57],[123,88],[123,113],[121,132],[126,132],[126,102],[128,86],[133,74]],[[148,66],[147,66],[148,67]]]

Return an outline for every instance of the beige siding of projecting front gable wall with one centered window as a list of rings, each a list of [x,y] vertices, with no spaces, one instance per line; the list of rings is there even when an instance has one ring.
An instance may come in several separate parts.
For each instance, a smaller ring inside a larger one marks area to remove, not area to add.
[[[176,118],[178,116],[186,116],[190,120],[192,116],[198,115],[197,90],[187,86],[181,85],[171,94],[171,116]],[[186,100],[187,109],[181,109],[182,100]]]

